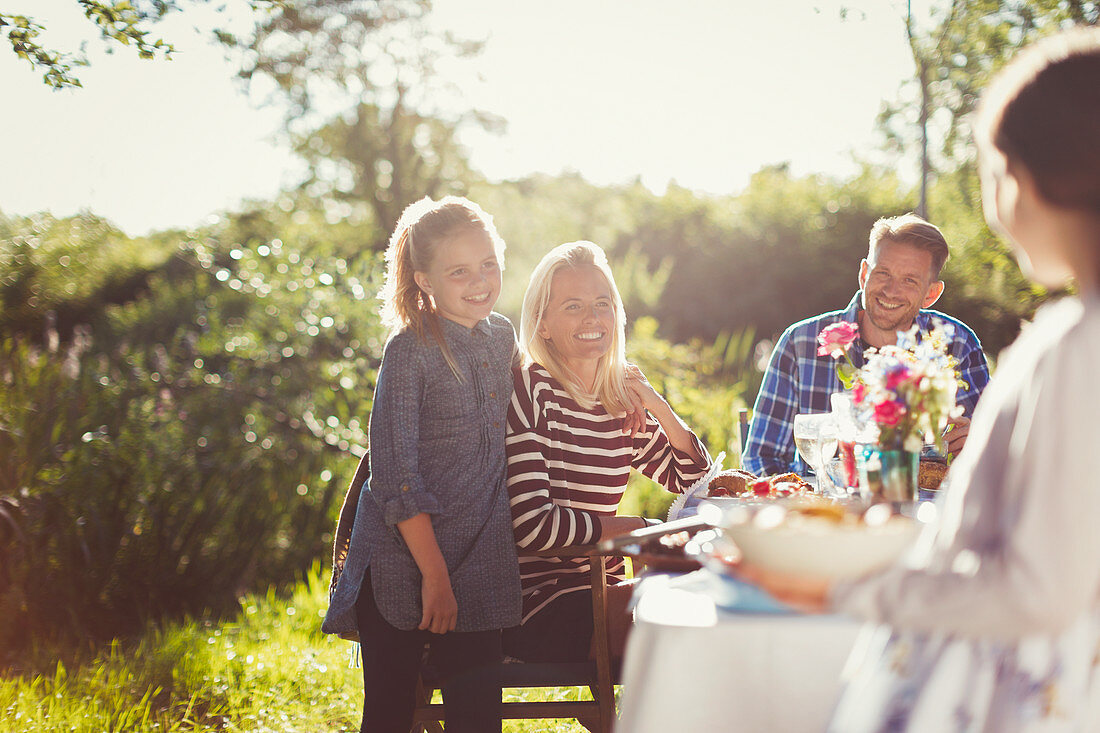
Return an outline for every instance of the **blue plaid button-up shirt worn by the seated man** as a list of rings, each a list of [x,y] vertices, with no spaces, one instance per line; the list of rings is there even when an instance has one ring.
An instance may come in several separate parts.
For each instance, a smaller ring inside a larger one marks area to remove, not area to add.
[[[829,412],[829,395],[844,389],[836,375],[836,360],[829,355],[817,355],[817,335],[826,326],[842,320],[858,324],[859,311],[862,310],[861,296],[862,293],[857,292],[844,310],[806,318],[783,331],[771,352],[760,394],[752,406],[752,423],[741,457],[745,469],[757,475],[805,472],[805,466],[794,449],[794,416],[799,413]],[[922,332],[928,332],[933,319],[955,328],[949,351],[958,360],[956,369],[959,379],[967,383],[965,390],[959,387],[957,400],[964,414],[970,417],[978,396],[989,382],[989,365],[981,351],[981,342],[965,324],[938,310],[921,310],[916,325]],[[848,353],[857,368],[862,366],[861,340],[857,339]]]

